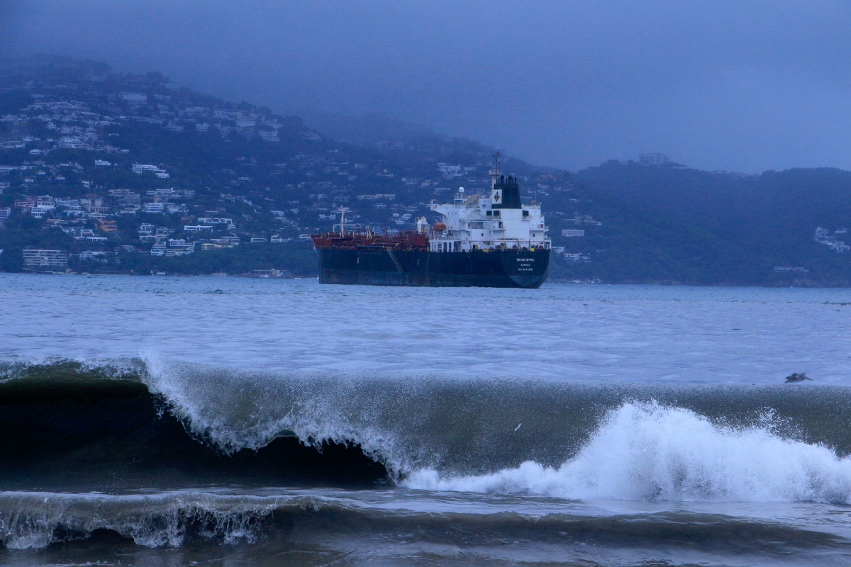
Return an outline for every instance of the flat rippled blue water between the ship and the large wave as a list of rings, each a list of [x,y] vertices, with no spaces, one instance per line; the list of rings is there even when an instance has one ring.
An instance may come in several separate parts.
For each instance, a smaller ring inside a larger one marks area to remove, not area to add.
[[[851,380],[851,290],[0,275],[0,358],[243,370],[773,384]]]

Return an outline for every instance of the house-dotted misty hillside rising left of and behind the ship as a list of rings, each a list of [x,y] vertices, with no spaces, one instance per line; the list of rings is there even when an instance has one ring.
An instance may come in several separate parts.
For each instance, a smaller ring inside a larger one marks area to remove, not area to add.
[[[24,248],[51,247],[86,271],[312,275],[304,235],[330,229],[335,209],[355,228],[412,228],[431,198],[484,186],[492,152],[443,138],[346,145],[299,117],[94,62],[13,62],[0,75],[6,270],[26,268]]]

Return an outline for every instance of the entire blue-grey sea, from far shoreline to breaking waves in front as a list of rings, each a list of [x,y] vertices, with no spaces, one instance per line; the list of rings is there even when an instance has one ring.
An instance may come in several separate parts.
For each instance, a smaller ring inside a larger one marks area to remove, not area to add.
[[[849,565],[849,322],[849,290],[0,275],[0,564]]]

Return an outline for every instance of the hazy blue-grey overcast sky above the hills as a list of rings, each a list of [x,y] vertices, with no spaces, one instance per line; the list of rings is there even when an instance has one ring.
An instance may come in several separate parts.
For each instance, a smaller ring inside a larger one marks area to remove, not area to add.
[[[568,169],[851,169],[851,2],[0,0],[63,54],[273,110],[377,113]]]

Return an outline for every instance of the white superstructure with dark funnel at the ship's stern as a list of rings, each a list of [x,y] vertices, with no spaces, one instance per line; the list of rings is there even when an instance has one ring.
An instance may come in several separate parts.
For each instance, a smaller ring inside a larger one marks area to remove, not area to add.
[[[502,175],[499,157],[499,152],[494,154],[488,196],[466,196],[461,187],[453,203],[431,204],[432,211],[443,215],[429,234],[431,252],[551,248],[540,205],[521,204],[517,180]],[[418,220],[425,230],[425,219]]]

